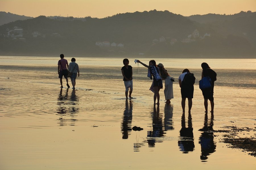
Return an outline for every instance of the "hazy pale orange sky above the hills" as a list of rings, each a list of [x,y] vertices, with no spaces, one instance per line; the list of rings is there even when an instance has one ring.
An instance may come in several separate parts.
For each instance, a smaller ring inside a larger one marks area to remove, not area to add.
[[[256,11],[256,0],[0,0],[0,11],[37,17],[104,18],[117,13],[168,10],[175,14],[235,14]]]

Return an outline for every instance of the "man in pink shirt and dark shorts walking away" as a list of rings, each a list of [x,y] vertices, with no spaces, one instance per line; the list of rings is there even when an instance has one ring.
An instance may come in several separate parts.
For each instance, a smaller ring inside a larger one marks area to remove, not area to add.
[[[64,59],[64,54],[60,55],[60,60],[58,61],[58,74],[59,74],[59,81],[61,83],[61,88],[63,88],[62,85],[62,77],[64,76],[64,78],[67,81],[67,87],[69,88],[69,80],[67,78],[68,75],[68,68],[69,68],[69,63],[67,62],[66,59]]]

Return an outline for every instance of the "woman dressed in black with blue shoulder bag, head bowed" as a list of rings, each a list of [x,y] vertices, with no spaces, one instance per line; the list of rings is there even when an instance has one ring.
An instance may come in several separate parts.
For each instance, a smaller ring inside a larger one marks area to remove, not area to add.
[[[204,96],[204,105],[205,105],[205,113],[208,112],[208,99],[210,100],[210,104],[211,104],[211,113],[213,114],[213,110],[214,110],[214,98],[213,98],[213,89],[214,89],[214,81],[217,80],[216,76],[217,74],[215,73],[215,71],[213,71],[209,65],[207,63],[202,63],[201,67],[203,69],[202,71],[202,80],[203,78],[205,80],[209,80],[210,78],[210,87],[207,88],[201,88],[203,92],[203,96]],[[201,81],[201,80],[200,80]],[[201,84],[201,82],[199,82],[199,84]]]

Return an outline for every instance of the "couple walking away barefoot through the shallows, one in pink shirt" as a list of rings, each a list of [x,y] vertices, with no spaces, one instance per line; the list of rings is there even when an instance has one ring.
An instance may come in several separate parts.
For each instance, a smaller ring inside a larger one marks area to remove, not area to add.
[[[58,75],[59,75],[61,88],[63,88],[63,85],[62,85],[63,76],[66,79],[67,87],[70,88],[69,80],[68,80],[68,75],[70,75],[70,80],[71,80],[71,83],[73,86],[72,89],[75,89],[76,78],[77,78],[77,76],[80,76],[79,75],[79,66],[76,63],[76,59],[71,58],[71,63],[68,64],[68,61],[66,59],[64,59],[64,54],[61,54],[60,58],[61,59],[58,61]],[[77,75],[77,73],[78,73],[78,75]]]

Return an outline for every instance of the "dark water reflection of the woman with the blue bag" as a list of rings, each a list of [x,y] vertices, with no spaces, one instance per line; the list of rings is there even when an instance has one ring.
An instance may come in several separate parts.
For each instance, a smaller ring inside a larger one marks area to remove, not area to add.
[[[208,159],[208,155],[215,152],[216,144],[213,141],[214,134],[213,134],[213,114],[211,114],[210,125],[208,126],[208,115],[205,114],[205,122],[204,127],[199,129],[199,131],[203,131],[201,136],[199,137],[199,143],[201,144],[201,156],[200,159],[205,160]]]

